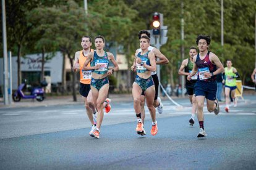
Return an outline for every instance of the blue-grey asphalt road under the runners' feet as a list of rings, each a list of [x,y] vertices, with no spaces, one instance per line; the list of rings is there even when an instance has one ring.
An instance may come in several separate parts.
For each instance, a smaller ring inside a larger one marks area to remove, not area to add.
[[[83,106],[0,109],[0,169],[255,169],[256,99],[239,102],[230,113],[207,113],[205,139],[198,123],[189,126],[190,105],[164,100],[158,134],[136,134],[132,102],[113,103],[100,139],[88,135]]]

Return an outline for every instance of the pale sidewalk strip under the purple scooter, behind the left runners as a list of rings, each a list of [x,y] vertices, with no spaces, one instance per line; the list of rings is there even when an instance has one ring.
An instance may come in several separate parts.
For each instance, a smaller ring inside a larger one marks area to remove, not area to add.
[[[130,102],[132,101],[132,94],[109,94],[109,98],[112,102]],[[38,102],[33,99],[21,99],[20,102],[12,102],[11,105],[4,105],[4,101],[0,99],[1,108],[19,108],[19,107],[48,107],[51,105],[74,105],[83,104],[82,97],[77,95],[77,102],[73,101],[72,95],[67,96],[48,96],[43,102]]]

